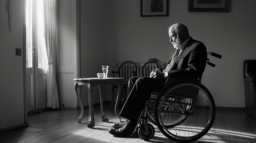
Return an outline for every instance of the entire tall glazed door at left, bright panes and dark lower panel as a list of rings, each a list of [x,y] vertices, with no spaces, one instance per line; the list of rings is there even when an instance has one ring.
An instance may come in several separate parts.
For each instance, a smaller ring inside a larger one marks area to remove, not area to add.
[[[47,108],[44,1],[26,1],[26,91],[28,113]]]

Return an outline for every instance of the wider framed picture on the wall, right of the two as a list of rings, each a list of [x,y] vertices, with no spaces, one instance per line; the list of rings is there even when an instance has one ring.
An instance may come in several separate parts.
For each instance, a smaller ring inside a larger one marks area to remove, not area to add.
[[[229,12],[229,0],[189,0],[189,12]]]

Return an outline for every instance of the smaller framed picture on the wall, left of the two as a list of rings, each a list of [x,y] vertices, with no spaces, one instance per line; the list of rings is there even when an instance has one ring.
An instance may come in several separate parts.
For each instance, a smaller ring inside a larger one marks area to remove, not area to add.
[[[140,16],[168,16],[168,0],[140,0]]]

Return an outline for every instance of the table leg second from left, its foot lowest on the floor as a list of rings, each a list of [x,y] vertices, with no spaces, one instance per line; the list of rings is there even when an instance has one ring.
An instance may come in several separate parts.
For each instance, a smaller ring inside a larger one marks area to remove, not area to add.
[[[94,128],[95,126],[95,120],[94,120],[94,114],[93,114],[93,102],[92,102],[92,92],[93,87],[90,85],[88,87],[88,104],[89,104],[89,118],[88,118],[88,128]]]

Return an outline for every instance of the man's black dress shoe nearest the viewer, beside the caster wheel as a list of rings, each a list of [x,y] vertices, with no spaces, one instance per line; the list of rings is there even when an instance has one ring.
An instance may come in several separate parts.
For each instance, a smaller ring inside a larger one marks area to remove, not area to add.
[[[131,123],[125,123],[125,125],[122,126],[122,128],[109,129],[109,133],[116,137],[128,137],[128,136],[132,135],[132,133],[135,129],[135,126],[136,125],[131,124]]]

